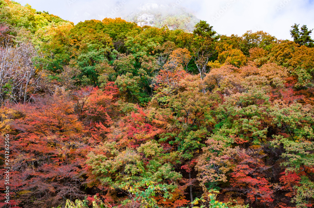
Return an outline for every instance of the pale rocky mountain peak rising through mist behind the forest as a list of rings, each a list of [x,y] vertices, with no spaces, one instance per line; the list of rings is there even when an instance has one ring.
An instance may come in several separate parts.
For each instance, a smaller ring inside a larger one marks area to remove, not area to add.
[[[143,3],[130,14],[122,17],[127,21],[135,22],[138,26],[168,26],[169,29],[183,29],[188,32],[194,30],[194,25],[199,22],[186,8],[176,3]]]

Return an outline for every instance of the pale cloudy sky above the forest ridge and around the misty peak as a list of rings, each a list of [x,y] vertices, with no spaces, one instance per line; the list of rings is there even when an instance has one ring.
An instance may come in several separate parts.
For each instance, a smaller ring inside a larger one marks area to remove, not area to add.
[[[278,39],[291,39],[294,23],[314,28],[314,0],[162,0],[182,6],[197,18],[206,20],[219,34],[241,36],[247,30],[263,30]],[[30,4],[75,24],[87,19],[102,20],[132,12],[145,0],[16,0]],[[160,2],[160,0],[156,0]],[[116,11],[114,11],[116,10]],[[313,31],[314,33],[314,31]],[[312,38],[314,35],[312,34]]]

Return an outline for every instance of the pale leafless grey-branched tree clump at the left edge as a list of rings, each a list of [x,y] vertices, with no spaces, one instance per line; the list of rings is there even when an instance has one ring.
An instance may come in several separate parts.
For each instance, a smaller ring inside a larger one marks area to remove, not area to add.
[[[38,90],[41,73],[31,58],[36,50],[31,44],[0,47],[0,107],[7,101],[28,101],[28,92]]]

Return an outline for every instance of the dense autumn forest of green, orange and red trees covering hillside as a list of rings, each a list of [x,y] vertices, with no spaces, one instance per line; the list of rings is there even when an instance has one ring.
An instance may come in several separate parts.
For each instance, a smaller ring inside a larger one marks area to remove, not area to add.
[[[0,0],[0,206],[312,207],[314,44],[289,32],[74,25]]]

